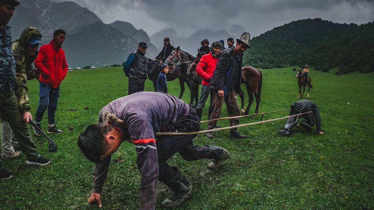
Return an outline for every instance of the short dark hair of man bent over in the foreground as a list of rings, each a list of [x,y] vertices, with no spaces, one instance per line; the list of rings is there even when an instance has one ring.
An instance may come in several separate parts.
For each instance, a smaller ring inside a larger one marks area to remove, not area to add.
[[[107,151],[108,146],[105,143],[105,135],[112,129],[109,126],[103,126],[102,123],[96,123],[88,126],[78,137],[79,149],[88,160],[93,163],[99,163],[101,156]]]

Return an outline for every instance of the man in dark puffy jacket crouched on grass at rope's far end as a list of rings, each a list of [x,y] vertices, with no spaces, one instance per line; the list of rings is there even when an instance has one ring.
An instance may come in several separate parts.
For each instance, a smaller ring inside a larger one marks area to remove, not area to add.
[[[291,112],[289,115],[301,114],[309,111],[312,111],[312,113],[301,115],[301,117],[297,116],[288,118],[284,130],[278,131],[278,134],[282,136],[290,136],[290,131],[292,127],[297,124],[299,118],[305,119],[305,121],[300,123],[300,126],[308,132],[310,132],[312,127],[316,124],[317,133],[324,134],[324,132],[321,131],[321,117],[319,116],[319,108],[315,103],[307,100],[295,102],[291,106]]]

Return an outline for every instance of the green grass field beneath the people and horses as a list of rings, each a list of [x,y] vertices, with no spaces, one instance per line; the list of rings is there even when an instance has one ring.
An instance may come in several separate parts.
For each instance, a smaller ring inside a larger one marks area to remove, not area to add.
[[[292,68],[262,70],[260,112],[286,109],[298,101],[296,72]],[[285,124],[281,120],[239,129],[248,135],[245,140],[230,140],[228,130],[214,133],[211,140],[199,135],[195,143],[223,146],[230,151],[230,159],[220,170],[209,171],[208,160],[187,162],[178,154],[171,158],[169,164],[179,166],[193,185],[191,199],[177,209],[374,209],[373,73],[338,77],[335,71],[311,70],[309,74],[314,87],[309,100],[320,108],[325,135],[317,135],[315,127],[310,133],[295,127],[291,137],[278,136],[276,131]],[[47,140],[33,135],[39,152],[52,164],[29,166],[24,155],[3,161],[14,177],[0,181],[0,209],[99,209],[87,204],[93,164],[77,147],[77,137],[97,121],[103,106],[127,95],[127,85],[122,68],[69,72],[61,84],[56,112],[56,124],[64,133],[50,135],[58,144],[58,152],[48,152]],[[168,86],[169,93],[179,95],[177,80]],[[38,82],[29,81],[28,87],[34,115],[39,100]],[[149,80],[145,90],[153,91]],[[183,100],[189,99],[186,85]],[[251,114],[254,108],[255,103]],[[203,120],[207,111],[206,107]],[[276,112],[265,115],[264,120],[286,115],[288,112]],[[225,107],[222,116],[227,116]],[[240,118],[241,124],[255,121],[260,121],[260,117]],[[226,127],[229,121],[219,124]],[[46,119],[42,126],[46,130]],[[202,124],[202,129],[206,129],[206,124]],[[139,180],[134,146],[123,143],[112,155],[102,209],[138,209]],[[156,209],[162,209],[160,203],[169,192],[159,183]]]

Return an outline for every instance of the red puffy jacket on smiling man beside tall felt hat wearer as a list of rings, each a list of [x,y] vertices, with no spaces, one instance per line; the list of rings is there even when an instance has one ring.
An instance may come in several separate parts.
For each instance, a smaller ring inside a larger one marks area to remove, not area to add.
[[[203,55],[197,64],[196,73],[203,78],[202,85],[209,86],[209,81],[215,70],[215,66],[218,63],[218,58],[212,56],[212,52]]]

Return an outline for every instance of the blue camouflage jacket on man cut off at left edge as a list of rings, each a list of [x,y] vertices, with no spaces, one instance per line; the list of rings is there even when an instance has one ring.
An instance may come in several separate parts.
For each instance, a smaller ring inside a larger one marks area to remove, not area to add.
[[[14,90],[15,69],[10,26],[4,24],[0,28],[0,90]]]

